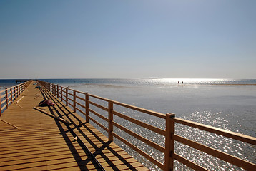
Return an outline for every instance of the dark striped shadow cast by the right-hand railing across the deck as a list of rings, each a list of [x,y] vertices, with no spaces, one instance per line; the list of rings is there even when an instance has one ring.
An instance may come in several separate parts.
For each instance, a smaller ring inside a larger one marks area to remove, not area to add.
[[[69,126],[55,120],[80,170],[89,170],[90,167],[87,167],[89,164],[94,165],[94,168],[97,170],[104,170],[103,167],[107,170],[122,170],[122,168],[129,170],[146,169],[145,167],[142,168],[142,165],[137,162],[137,160],[134,160],[130,156],[127,157],[126,152],[121,151],[114,142],[109,142],[102,133],[95,133],[95,128],[92,130],[92,125],[83,123],[84,120],[78,117],[77,113],[71,111],[69,107],[61,103],[54,95],[44,88],[40,88],[40,90],[44,99],[49,99],[55,103],[55,106],[43,107],[41,109],[46,110],[47,108],[52,115],[59,116],[59,118],[64,118],[72,123],[72,125]],[[77,123],[83,124],[79,126]],[[79,147],[81,147],[87,155],[85,160],[79,155],[79,152],[77,152],[76,147],[74,147],[74,140],[71,140],[70,136],[67,135],[68,133],[71,133],[73,138],[78,138],[77,143]],[[138,165],[138,163],[140,165]]]

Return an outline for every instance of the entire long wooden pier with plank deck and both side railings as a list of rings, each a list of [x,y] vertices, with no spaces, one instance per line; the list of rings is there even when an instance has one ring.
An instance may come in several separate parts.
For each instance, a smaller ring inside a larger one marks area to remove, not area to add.
[[[44,99],[49,99],[56,105],[38,107],[39,102]],[[97,100],[101,103],[97,103]],[[129,114],[125,115],[117,108],[160,118],[165,123],[165,129],[144,123]],[[84,115],[85,119],[76,112]],[[192,162],[182,154],[177,154],[174,142],[200,150],[245,170],[256,170],[255,161],[243,160],[240,156],[232,156],[225,151],[189,140],[177,135],[174,130],[177,124],[186,125],[247,143],[252,147],[256,145],[255,137],[175,118],[171,113],[157,113],[44,81],[27,81],[1,90],[0,116],[0,170],[148,170],[118,147],[113,142],[114,138],[166,171],[174,170],[174,160],[194,170],[207,170],[202,163]],[[102,121],[99,122],[92,116],[97,116]],[[129,130],[115,120],[117,117],[138,128],[161,135],[164,145]],[[100,133],[89,122],[105,130],[108,136]],[[113,128],[118,128],[137,138],[142,144],[158,150],[162,153],[164,161],[132,144]]]

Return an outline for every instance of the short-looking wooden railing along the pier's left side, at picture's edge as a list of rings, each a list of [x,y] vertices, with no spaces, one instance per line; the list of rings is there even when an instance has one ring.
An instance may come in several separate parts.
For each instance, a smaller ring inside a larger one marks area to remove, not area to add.
[[[25,83],[20,83],[19,85],[6,88],[5,90],[0,90],[0,116],[31,82],[32,81],[26,81]]]

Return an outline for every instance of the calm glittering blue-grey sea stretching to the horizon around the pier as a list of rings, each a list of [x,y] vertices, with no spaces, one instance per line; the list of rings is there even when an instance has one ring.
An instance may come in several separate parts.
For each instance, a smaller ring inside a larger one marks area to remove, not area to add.
[[[154,110],[159,113],[175,113],[177,118],[192,120],[197,123],[212,125],[217,128],[256,137],[256,80],[255,79],[48,79],[44,80],[61,86],[69,86],[74,90],[89,92],[103,98],[117,100],[140,108]],[[179,83],[178,83],[179,81]],[[183,81],[183,83],[182,83]],[[0,90],[15,85],[14,80],[0,80]],[[122,110],[122,109],[120,109]],[[132,115],[146,123],[164,128],[164,122],[157,118],[138,113],[122,113]],[[122,122],[122,121],[120,121]],[[154,142],[164,145],[162,137],[152,135],[147,130],[127,125],[131,130],[150,137]],[[176,133],[185,138],[215,147],[244,160],[256,163],[256,147],[229,138],[223,138],[205,131],[177,125]],[[129,135],[127,138],[130,138]],[[130,138],[133,140],[132,138]],[[121,142],[129,154],[140,162],[146,163],[150,170],[158,170],[148,160],[144,160]],[[162,153],[147,147],[138,140],[134,143],[147,150],[150,155],[164,161]],[[199,152],[193,148],[176,143],[175,152],[208,170],[241,170],[227,162]],[[176,170],[189,170],[175,162]]]

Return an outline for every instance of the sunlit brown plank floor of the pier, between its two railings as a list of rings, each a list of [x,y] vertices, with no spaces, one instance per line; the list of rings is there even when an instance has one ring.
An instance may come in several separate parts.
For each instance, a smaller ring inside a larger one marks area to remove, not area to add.
[[[24,98],[19,96],[22,99],[18,105],[10,105],[1,115],[0,119],[7,123],[0,120],[0,170],[101,170],[84,145],[104,170],[148,170],[114,142],[108,142],[107,137],[64,103],[33,83],[24,90]],[[72,125],[34,110],[44,98],[56,105],[38,108]],[[82,127],[78,126],[79,122],[84,123]],[[74,141],[76,136],[82,141]]]

